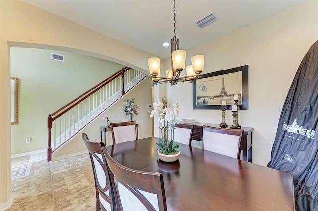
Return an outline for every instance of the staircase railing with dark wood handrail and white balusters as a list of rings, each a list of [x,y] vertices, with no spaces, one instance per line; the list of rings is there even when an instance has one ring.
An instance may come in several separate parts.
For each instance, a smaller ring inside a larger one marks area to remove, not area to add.
[[[124,67],[67,105],[48,115],[48,161],[52,153],[71,140],[147,74]]]

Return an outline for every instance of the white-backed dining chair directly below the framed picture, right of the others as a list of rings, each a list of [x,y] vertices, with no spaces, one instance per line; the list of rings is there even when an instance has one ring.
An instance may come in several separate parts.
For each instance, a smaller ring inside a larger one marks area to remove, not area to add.
[[[202,148],[233,158],[240,158],[244,130],[203,126]]]

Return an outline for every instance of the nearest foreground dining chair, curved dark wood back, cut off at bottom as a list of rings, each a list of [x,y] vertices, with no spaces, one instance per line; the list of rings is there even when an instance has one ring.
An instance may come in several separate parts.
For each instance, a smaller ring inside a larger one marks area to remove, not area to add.
[[[166,211],[162,173],[137,171],[117,163],[107,148],[102,148],[107,160],[114,189],[117,211]]]

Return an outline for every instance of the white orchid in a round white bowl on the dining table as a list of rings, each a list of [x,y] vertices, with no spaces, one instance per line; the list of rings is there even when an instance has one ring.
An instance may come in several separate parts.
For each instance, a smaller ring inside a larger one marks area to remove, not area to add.
[[[165,162],[173,162],[179,159],[179,144],[174,142],[174,123],[179,116],[180,106],[174,103],[172,108],[167,108],[164,103],[154,103],[150,117],[157,118],[160,123],[162,140],[156,143],[159,147],[157,152],[159,158]]]

